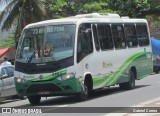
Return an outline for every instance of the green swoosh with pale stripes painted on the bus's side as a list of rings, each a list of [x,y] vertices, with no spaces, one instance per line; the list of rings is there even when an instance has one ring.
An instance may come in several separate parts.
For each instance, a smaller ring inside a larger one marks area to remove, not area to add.
[[[109,75],[98,77],[98,78],[93,78],[93,86],[94,87],[99,85],[111,86],[116,84],[116,82],[120,77],[122,77],[122,75],[126,75],[126,72],[130,68],[130,66],[136,66],[138,69],[152,66],[151,58],[147,59],[147,54],[151,54],[151,53],[140,52],[140,53],[134,54],[133,56],[129,57],[113,74],[109,74]],[[143,78],[144,75],[147,75],[147,74],[142,74],[140,78]]]

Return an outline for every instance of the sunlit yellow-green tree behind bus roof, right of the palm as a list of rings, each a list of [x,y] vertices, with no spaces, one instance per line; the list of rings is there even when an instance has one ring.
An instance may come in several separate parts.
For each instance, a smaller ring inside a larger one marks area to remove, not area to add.
[[[107,0],[48,0],[50,14],[53,18],[74,16],[84,13],[113,12],[106,3]]]

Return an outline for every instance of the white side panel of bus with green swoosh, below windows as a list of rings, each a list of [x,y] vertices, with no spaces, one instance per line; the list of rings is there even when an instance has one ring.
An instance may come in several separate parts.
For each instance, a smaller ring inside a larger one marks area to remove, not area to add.
[[[146,48],[144,52],[144,47],[132,48],[132,51],[122,49],[118,52],[117,50],[95,52],[84,58],[80,64],[83,64],[83,74],[92,72],[94,89],[129,81],[131,67],[136,68],[138,80],[152,73],[151,50]]]

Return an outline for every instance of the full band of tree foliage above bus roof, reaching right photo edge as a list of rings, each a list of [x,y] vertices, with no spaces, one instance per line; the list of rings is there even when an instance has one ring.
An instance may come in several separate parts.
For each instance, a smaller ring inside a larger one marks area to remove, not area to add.
[[[82,13],[118,13],[122,16],[145,17],[159,15],[156,0],[48,0],[54,18]]]

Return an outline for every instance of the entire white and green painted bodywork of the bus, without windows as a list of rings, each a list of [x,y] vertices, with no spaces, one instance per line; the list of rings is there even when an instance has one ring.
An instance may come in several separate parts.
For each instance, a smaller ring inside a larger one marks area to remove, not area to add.
[[[15,71],[16,78],[24,79],[23,83],[16,82],[16,89],[20,96],[54,96],[54,95],[70,95],[77,94],[83,90],[83,85],[87,75],[91,75],[93,82],[93,89],[113,86],[128,82],[130,80],[129,71],[132,68],[136,69],[136,79],[152,73],[152,55],[151,46],[136,46],[133,48],[125,47],[124,49],[111,50],[96,50],[95,41],[92,32],[93,52],[86,55],[79,62],[78,59],[78,38],[79,28],[81,24],[136,24],[147,22],[144,19],[101,19],[101,18],[66,18],[58,20],[50,20],[30,24],[25,29],[48,26],[56,24],[75,24],[75,40],[74,40],[74,64],[67,68],[58,69],[50,73],[27,74],[20,71]],[[147,26],[148,37],[149,30]],[[16,62],[19,62],[18,60]],[[67,78],[68,74],[74,75],[72,78],[59,80],[60,78]]]

